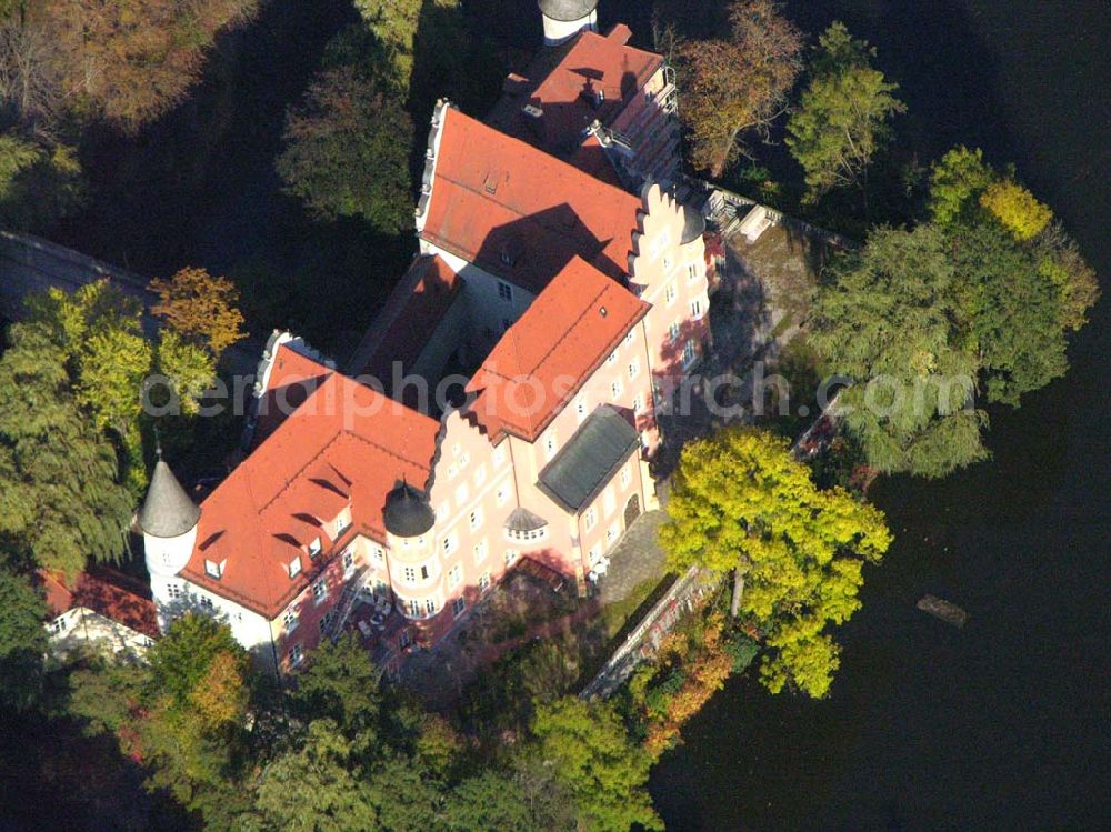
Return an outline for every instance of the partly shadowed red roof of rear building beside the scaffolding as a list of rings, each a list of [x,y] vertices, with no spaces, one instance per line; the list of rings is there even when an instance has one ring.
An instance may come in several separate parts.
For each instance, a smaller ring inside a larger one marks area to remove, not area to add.
[[[605,37],[584,31],[564,48],[541,52],[528,70],[531,82],[518,77],[507,83],[488,121],[591,176],[613,181],[609,161],[582,153],[581,146],[583,131],[595,119],[609,127],[663,63],[661,56],[628,46],[631,37],[629,27],[618,24]],[[540,108],[543,116],[527,116],[526,104]]]

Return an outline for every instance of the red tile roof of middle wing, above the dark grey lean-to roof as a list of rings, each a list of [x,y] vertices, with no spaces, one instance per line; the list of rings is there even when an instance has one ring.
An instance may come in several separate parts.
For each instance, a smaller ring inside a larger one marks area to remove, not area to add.
[[[467,385],[491,438],[532,442],[562,410],[649,304],[574,258],[509,328]]]

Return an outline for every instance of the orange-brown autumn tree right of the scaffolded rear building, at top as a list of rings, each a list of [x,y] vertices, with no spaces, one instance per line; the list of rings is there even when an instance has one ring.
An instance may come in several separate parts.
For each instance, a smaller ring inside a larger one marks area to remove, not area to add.
[[[802,33],[774,0],[734,0],[729,21],[727,38],[690,41],[677,52],[690,160],[714,177],[743,152],[741,136],[767,132],[785,112],[802,71]]]

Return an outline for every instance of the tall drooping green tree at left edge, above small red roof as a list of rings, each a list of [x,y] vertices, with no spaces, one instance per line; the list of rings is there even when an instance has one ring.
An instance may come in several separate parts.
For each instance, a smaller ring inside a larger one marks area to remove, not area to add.
[[[70,577],[122,550],[131,497],[111,444],[71,392],[66,352],[17,324],[0,358],[0,533]]]

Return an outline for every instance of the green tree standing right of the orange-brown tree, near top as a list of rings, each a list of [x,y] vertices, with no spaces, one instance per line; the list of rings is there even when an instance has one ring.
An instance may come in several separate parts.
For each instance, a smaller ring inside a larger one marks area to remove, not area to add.
[[[810,199],[855,184],[888,140],[888,121],[905,111],[898,84],[871,66],[875,50],[840,22],[819,38],[810,83],[788,121],[787,146],[802,166]]]

